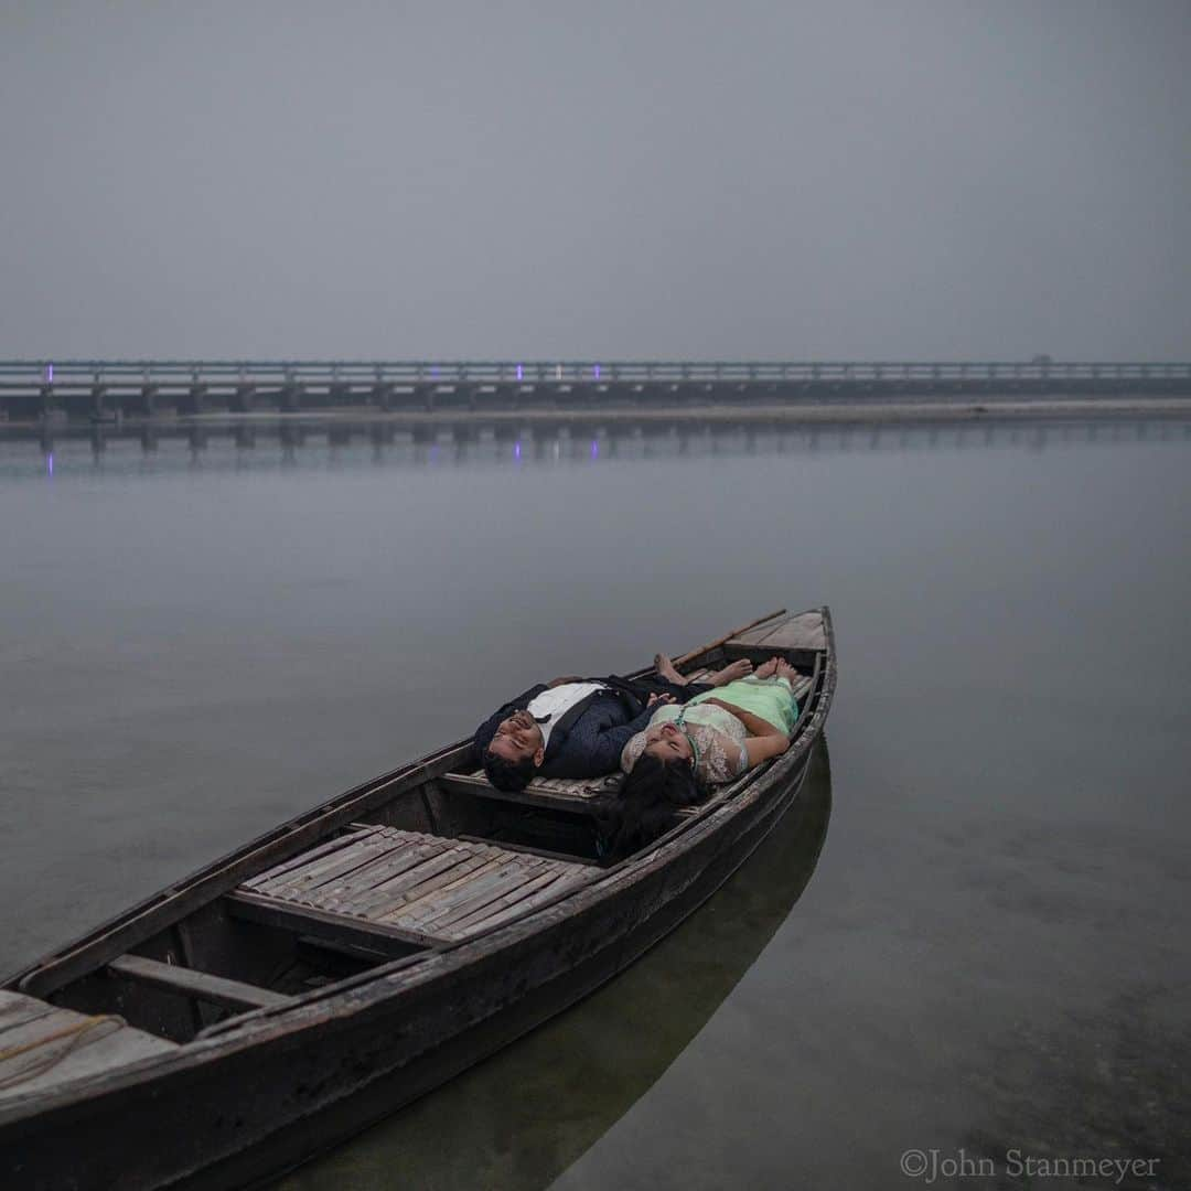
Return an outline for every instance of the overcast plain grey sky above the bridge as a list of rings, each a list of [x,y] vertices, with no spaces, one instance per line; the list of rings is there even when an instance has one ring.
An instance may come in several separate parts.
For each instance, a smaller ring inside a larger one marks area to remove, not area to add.
[[[1191,358],[1191,0],[0,0],[0,357]]]

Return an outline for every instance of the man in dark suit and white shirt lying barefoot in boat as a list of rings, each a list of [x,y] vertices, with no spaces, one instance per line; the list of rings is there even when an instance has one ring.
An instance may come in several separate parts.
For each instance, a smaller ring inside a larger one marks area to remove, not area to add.
[[[621,750],[659,703],[686,703],[753,668],[737,661],[706,682],[690,682],[665,654],[654,665],[656,676],[572,676],[531,686],[476,729],[474,760],[497,790],[524,790],[536,777],[598,778],[619,766]]]

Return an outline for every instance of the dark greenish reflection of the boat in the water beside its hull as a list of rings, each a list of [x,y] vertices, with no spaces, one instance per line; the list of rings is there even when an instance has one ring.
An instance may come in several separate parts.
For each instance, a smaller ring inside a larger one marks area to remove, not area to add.
[[[831,813],[823,741],[802,794],[716,896],[628,971],[274,1191],[526,1191],[557,1178],[699,1033],[786,919]]]

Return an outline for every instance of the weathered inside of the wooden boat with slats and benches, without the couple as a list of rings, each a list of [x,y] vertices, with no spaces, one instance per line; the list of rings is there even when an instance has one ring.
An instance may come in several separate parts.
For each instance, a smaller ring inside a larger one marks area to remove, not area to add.
[[[679,668],[699,680],[738,657],[784,655],[804,675],[797,738],[823,684],[828,636],[817,611],[777,613]],[[381,965],[416,964],[606,871],[593,800],[615,792],[619,774],[504,793],[467,757],[456,746],[332,800],[10,981],[0,1102],[212,1036]],[[680,815],[698,818],[763,769]],[[295,849],[294,837],[306,846]]]

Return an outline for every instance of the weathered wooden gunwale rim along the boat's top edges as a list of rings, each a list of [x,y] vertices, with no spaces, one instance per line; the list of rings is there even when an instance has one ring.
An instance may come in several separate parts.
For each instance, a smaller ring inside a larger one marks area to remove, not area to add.
[[[287,1037],[300,1035],[305,1030],[328,1025],[336,1021],[350,1021],[358,1012],[385,1000],[404,996],[426,984],[448,979],[450,975],[466,969],[469,965],[481,962],[491,955],[503,952],[509,947],[520,943],[535,934],[540,934],[560,922],[565,922],[576,915],[598,908],[600,903],[618,894],[625,893],[641,881],[656,874],[659,871],[674,863],[681,855],[691,852],[699,843],[712,835],[727,829],[729,823],[743,816],[749,809],[755,807],[762,797],[775,786],[784,784],[787,778],[793,777],[799,768],[809,765],[810,752],[822,735],[827,715],[830,710],[836,684],[836,656],[835,634],[831,624],[829,609],[824,605],[817,611],[823,616],[824,647],[817,650],[823,657],[819,671],[817,687],[810,692],[810,698],[816,700],[813,711],[792,743],[791,748],[772,761],[767,767],[757,769],[746,782],[734,790],[730,794],[724,793],[713,797],[699,807],[699,813],[684,819],[666,835],[660,837],[649,850],[628,856],[616,865],[604,869],[593,869],[592,879],[582,885],[574,886],[560,893],[553,902],[543,903],[531,910],[526,910],[522,916],[513,917],[506,922],[490,928],[485,933],[468,936],[462,940],[451,941],[441,947],[419,952],[413,955],[395,959],[388,964],[379,965],[366,972],[357,973],[336,984],[323,989],[316,989],[301,996],[294,997],[286,1005],[251,1010],[236,1015],[226,1022],[211,1027],[211,1033],[200,1035],[186,1043],[181,1043],[175,1052],[167,1052],[152,1055],[117,1071],[100,1071],[94,1074],[81,1077],[76,1080],[49,1087],[43,1092],[35,1092],[27,1097],[14,1098],[11,1104],[0,1104],[0,1125],[15,1124],[19,1121],[38,1116],[40,1114],[57,1109],[69,1108],[80,1100],[88,1098],[88,1093],[101,1091],[104,1095],[123,1092],[144,1080],[144,1077],[163,1078],[174,1075],[187,1070],[201,1067],[208,1062],[223,1060],[237,1052],[251,1049],[255,1046],[282,1041]],[[718,646],[709,647],[701,653],[710,653]],[[696,653],[699,657],[701,653]],[[692,659],[693,660],[693,659]],[[651,667],[647,667],[640,673],[649,673]],[[464,744],[470,743],[463,742]],[[384,788],[391,780],[407,777],[416,769],[435,760],[443,760],[460,749],[461,746],[448,746],[435,753],[428,754],[428,759],[409,762],[407,765],[384,774],[369,782],[354,787],[347,794],[342,794],[331,803],[324,803],[314,811],[298,816],[297,819],[275,828],[267,833],[261,840],[273,841],[283,836],[291,823],[303,823],[317,811],[331,813],[345,800],[357,793],[367,793]],[[803,774],[805,775],[805,774]],[[430,779],[426,779],[430,780]],[[332,805],[333,804],[333,805]],[[179,883],[179,887],[167,886],[167,890],[149,898],[133,910],[125,911],[124,915],[113,919],[116,924],[124,924],[133,919],[137,913],[146,912],[150,909],[160,908],[168,902],[163,894],[180,896],[186,891],[187,884],[197,884],[206,875],[213,875],[222,866],[226,866],[233,858],[239,858],[242,853],[250,854],[251,848],[257,843],[244,846],[230,853],[227,858],[213,861],[205,868],[192,874],[187,880]],[[226,891],[223,891],[226,892]],[[222,896],[216,893],[211,900]],[[204,903],[206,904],[206,903]],[[566,908],[560,909],[560,908]],[[191,911],[193,912],[193,911]],[[88,942],[80,942],[79,947],[68,954],[75,954],[79,948],[91,946],[101,941],[112,923],[96,928],[93,936],[87,936]],[[136,944],[133,944],[136,946]],[[33,965],[30,973],[39,971]],[[0,986],[13,986],[12,981],[5,981]],[[368,996],[373,992],[373,996]],[[341,1005],[336,1000],[343,998]]]

